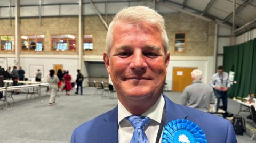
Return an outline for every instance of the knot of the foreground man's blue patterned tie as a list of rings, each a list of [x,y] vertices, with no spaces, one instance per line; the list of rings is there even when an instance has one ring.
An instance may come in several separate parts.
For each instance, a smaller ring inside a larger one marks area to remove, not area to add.
[[[129,116],[128,121],[132,124],[134,129],[144,129],[144,127],[149,123],[150,119],[146,116]]]

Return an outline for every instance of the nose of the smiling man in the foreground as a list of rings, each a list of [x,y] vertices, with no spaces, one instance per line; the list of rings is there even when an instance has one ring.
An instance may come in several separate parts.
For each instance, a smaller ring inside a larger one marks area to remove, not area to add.
[[[131,69],[134,70],[145,70],[147,67],[147,64],[145,62],[145,59],[143,58],[143,54],[141,51],[136,51],[133,53],[133,58],[130,63]]]

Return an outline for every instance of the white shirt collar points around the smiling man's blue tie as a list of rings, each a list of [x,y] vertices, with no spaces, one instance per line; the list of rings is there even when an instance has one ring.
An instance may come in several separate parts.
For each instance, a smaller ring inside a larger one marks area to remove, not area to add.
[[[151,120],[161,123],[164,103],[165,103],[164,97],[160,96],[157,99],[156,103],[152,107],[150,107],[148,111],[146,111],[141,115],[147,116]],[[126,110],[126,108],[122,105],[122,103],[119,100],[117,104],[118,104],[118,124],[120,125],[123,119],[129,116],[132,116],[132,114]]]

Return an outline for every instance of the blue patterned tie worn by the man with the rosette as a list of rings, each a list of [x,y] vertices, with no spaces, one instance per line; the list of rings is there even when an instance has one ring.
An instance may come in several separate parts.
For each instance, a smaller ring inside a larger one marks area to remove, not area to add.
[[[149,123],[150,119],[145,116],[129,116],[127,119],[134,128],[130,143],[148,143],[149,141],[144,132],[144,127]]]

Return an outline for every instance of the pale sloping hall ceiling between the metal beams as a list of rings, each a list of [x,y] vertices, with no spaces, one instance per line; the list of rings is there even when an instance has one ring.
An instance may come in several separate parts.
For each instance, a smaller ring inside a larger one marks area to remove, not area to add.
[[[108,2],[107,13],[114,14],[122,7],[133,6],[133,5],[146,5],[153,7],[153,0],[91,0],[95,4],[95,7],[101,14],[105,14],[105,2]],[[163,2],[165,4],[175,6],[181,10],[193,12],[198,15],[203,15],[206,18],[218,20],[225,24],[232,24],[233,12],[233,0],[155,0],[156,10],[160,13],[177,13],[177,10],[172,10],[169,7],[157,4],[157,2]],[[43,16],[59,16],[59,15],[77,15],[78,14],[78,3],[79,0],[41,0]],[[83,1],[85,15],[95,14],[89,0]],[[51,5],[57,4],[57,5]],[[38,5],[39,0],[20,0],[21,5],[21,16],[38,16]],[[33,6],[31,6],[33,5]],[[209,9],[206,10],[206,7]],[[0,17],[8,18],[14,16],[15,0],[11,0],[11,12],[9,12],[9,0],[0,0]],[[49,7],[49,9],[47,8]],[[55,7],[52,9],[51,7]],[[256,0],[236,0],[236,18],[235,25],[238,27],[254,20],[256,18]],[[49,11],[51,10],[51,11]],[[59,15],[58,15],[59,14]],[[230,15],[229,17],[227,17]]]

